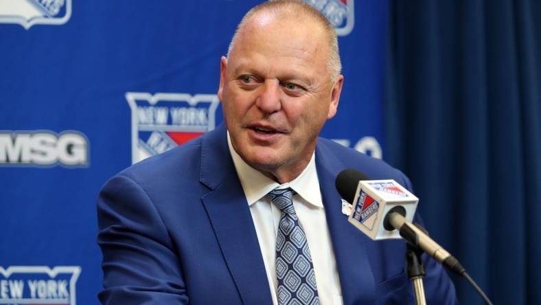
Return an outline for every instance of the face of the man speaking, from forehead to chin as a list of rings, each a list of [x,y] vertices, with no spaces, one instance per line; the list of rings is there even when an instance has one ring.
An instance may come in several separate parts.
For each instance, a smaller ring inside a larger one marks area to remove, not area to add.
[[[246,22],[222,58],[218,91],[235,151],[280,183],[310,161],[343,82],[330,80],[321,26],[290,19],[263,13]]]

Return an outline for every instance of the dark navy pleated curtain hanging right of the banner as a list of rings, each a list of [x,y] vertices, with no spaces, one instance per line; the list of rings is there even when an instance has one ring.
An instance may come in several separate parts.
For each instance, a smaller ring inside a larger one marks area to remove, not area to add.
[[[541,304],[541,1],[389,6],[384,159],[494,304]]]

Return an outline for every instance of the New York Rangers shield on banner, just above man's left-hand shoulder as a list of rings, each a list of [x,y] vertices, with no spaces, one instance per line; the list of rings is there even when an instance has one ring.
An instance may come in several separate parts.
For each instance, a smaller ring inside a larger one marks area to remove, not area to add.
[[[132,162],[163,153],[211,131],[220,101],[215,94],[128,92]]]

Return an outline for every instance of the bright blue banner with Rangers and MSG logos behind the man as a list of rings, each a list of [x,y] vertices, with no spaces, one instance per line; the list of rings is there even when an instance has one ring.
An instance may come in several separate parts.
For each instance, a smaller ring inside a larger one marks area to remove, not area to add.
[[[0,0],[0,304],[97,304],[97,193],[222,122],[220,56],[260,2]],[[381,157],[387,1],[307,2],[345,75],[323,136]]]

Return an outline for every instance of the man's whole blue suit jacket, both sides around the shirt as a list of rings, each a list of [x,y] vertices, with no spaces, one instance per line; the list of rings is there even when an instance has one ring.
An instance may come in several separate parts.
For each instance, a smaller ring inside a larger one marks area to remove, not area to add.
[[[415,304],[403,240],[374,242],[347,222],[338,172],[410,182],[386,163],[326,139],[316,168],[344,304]],[[219,126],[109,180],[97,202],[104,304],[272,304],[259,242]],[[318,249],[310,249],[318,251]],[[428,304],[454,304],[452,282],[428,259]]]

